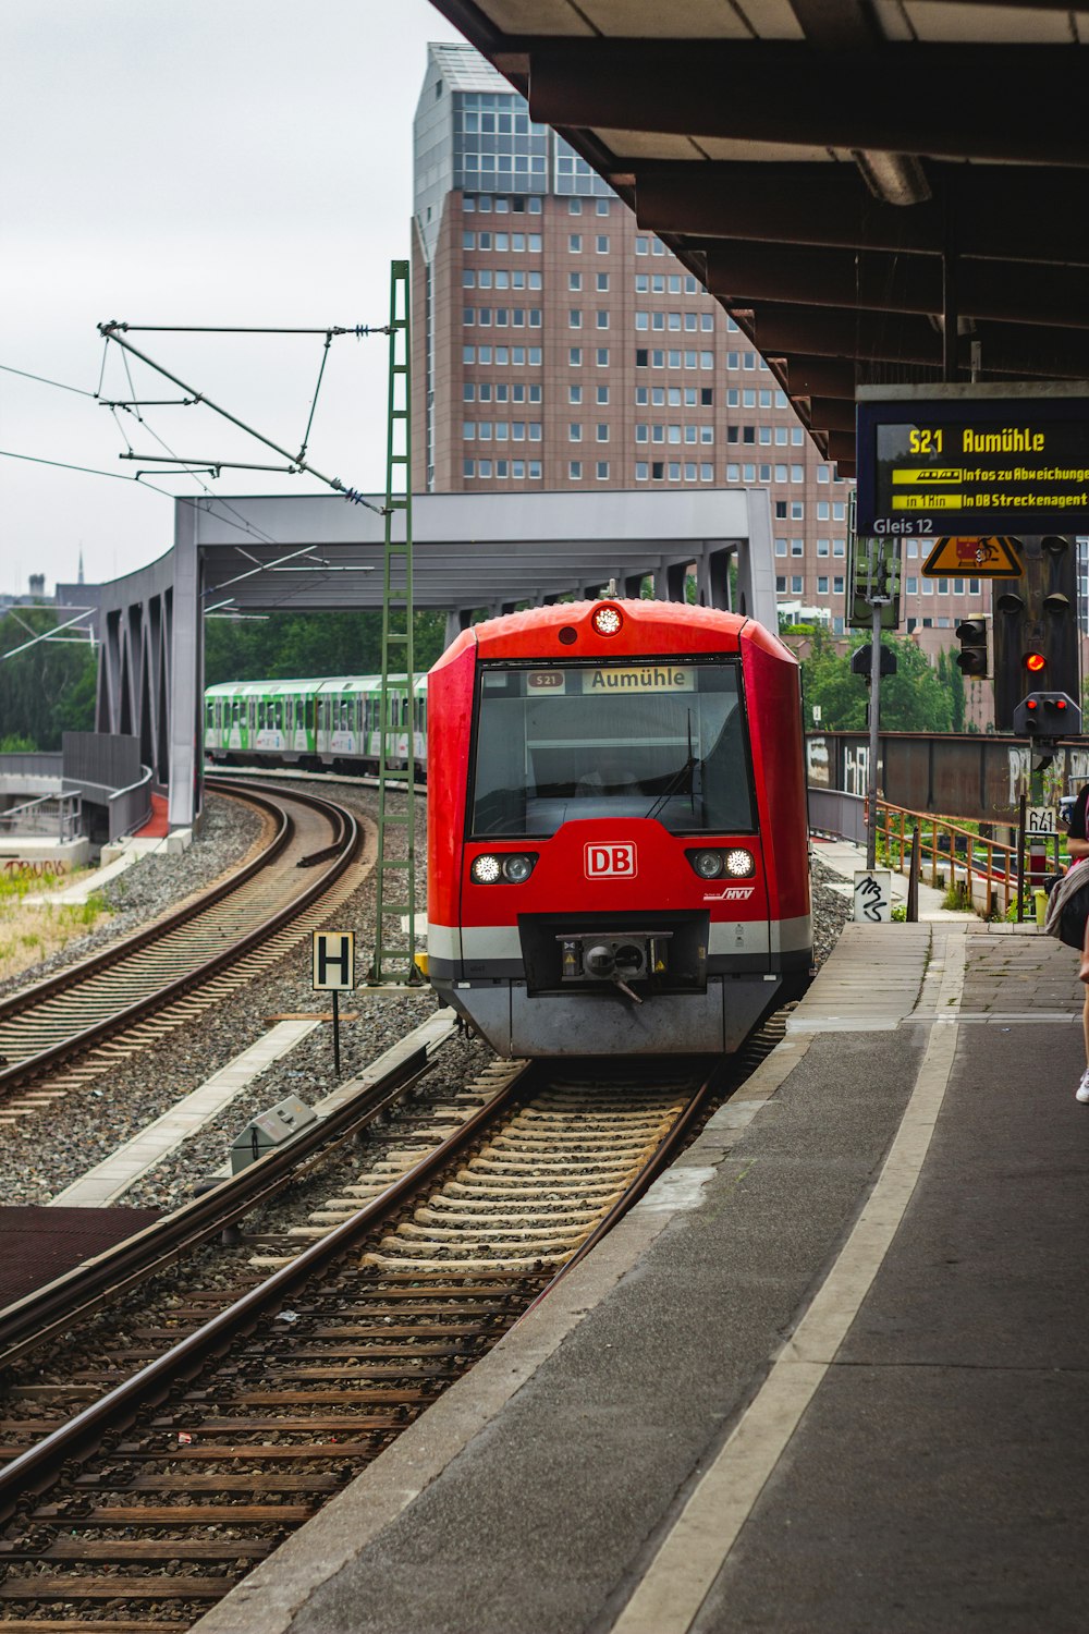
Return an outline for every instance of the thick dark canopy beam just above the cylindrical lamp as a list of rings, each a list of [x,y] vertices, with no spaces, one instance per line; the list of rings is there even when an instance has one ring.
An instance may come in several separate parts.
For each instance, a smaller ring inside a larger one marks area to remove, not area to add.
[[[611,147],[612,132],[630,131],[1089,163],[1089,131],[1071,118],[1086,70],[1069,46],[911,41],[821,52],[805,41],[542,38],[514,49],[529,54],[532,118],[596,131]],[[924,118],[905,119],[903,87]]]

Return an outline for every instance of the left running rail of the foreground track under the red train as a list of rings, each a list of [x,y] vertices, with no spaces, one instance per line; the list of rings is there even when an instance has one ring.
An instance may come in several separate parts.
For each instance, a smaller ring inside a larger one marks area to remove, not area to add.
[[[424,1154],[418,1163],[366,1203],[351,1219],[336,1226],[328,1235],[312,1243],[299,1253],[289,1265],[281,1266],[264,1283],[251,1288],[225,1310],[219,1310],[196,1332],[186,1335],[173,1350],[165,1351],[150,1361],[132,1377],[118,1384],[98,1402],[85,1407],[83,1412],[70,1418],[69,1423],[54,1430],[34,1446],[20,1453],[3,1469],[0,1469],[0,1520],[7,1520],[29,1490],[42,1492],[72,1458],[78,1458],[106,1430],[116,1430],[132,1422],[132,1418],[150,1400],[155,1400],[170,1389],[175,1379],[196,1373],[212,1355],[225,1348],[232,1338],[242,1333],[251,1322],[282,1299],[287,1292],[305,1283],[312,1275],[325,1270],[341,1252],[353,1247],[354,1240],[372,1230],[382,1219],[397,1212],[402,1201],[408,1198],[426,1178],[451,1163],[457,1154],[469,1145],[480,1131],[491,1123],[498,1113],[509,1105],[516,1093],[524,1092],[527,1080],[539,1074],[536,1064],[529,1064],[518,1077],[503,1085],[498,1093],[480,1106],[447,1141]]]

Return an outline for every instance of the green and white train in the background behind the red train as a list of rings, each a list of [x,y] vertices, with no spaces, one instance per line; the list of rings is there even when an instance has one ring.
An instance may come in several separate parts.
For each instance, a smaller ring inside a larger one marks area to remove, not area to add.
[[[389,681],[387,763],[428,761],[428,678]],[[204,757],[230,766],[371,771],[379,765],[380,675],[320,681],[225,681],[204,693]]]

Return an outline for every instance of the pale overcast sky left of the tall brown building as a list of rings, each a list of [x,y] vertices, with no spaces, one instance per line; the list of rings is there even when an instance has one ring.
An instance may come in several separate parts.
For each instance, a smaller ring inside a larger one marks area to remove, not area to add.
[[[411,118],[428,0],[3,0],[0,364],[95,392],[96,325],[384,324],[410,252]],[[323,337],[132,335],[132,343],[297,449]],[[139,397],[180,395],[132,363]],[[312,462],[379,489],[387,342],[333,342]],[[129,397],[109,346],[103,395]],[[207,408],[121,413],[137,453],[274,461]],[[131,475],[111,410],[0,371],[0,449]],[[158,477],[171,493],[191,479]],[[209,479],[206,479],[209,480]],[[224,472],[216,493],[320,492]],[[173,539],[173,505],[132,480],[0,458],[0,592],[113,578]]]

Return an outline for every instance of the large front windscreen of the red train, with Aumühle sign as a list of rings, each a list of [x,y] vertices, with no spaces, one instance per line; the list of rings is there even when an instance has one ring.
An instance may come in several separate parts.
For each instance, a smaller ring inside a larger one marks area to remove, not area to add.
[[[547,837],[583,817],[671,833],[754,827],[738,665],[485,665],[473,835]]]

